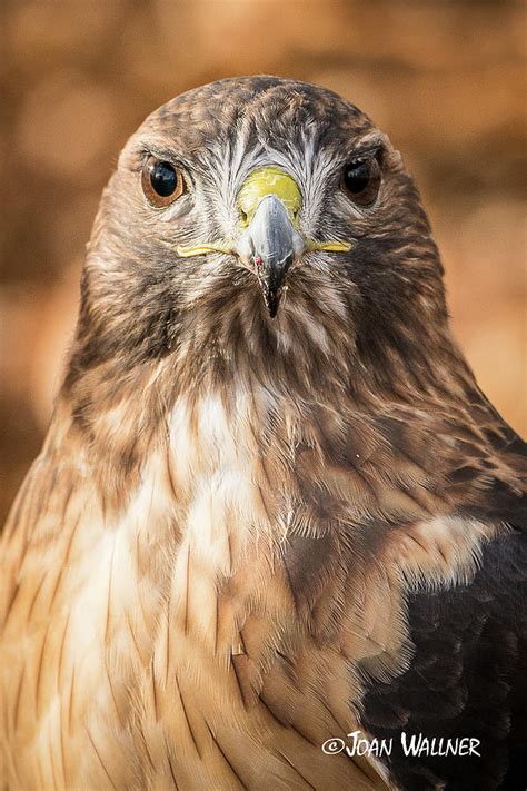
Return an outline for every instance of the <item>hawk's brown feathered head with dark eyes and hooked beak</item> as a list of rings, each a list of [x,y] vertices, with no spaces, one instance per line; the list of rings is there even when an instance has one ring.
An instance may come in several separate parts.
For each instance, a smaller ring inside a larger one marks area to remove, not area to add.
[[[387,137],[330,91],[260,77],[190,91],[130,139],[96,223],[79,339],[90,364],[185,345],[295,365],[291,349],[331,358],[340,343],[368,365],[444,323],[437,250]]]

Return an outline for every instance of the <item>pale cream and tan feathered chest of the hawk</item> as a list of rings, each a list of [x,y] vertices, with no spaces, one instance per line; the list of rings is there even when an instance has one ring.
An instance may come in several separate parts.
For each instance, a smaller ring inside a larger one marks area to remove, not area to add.
[[[381,783],[320,745],[358,726],[360,666],[406,666],[404,580],[471,574],[484,535],[417,521],[366,428],[264,389],[181,398],[117,511],[89,464],[37,465],[24,500],[41,514],[24,533],[22,508],[6,544],[19,783]]]

